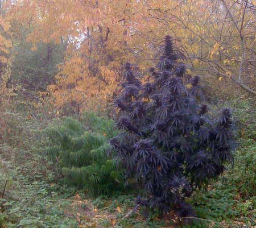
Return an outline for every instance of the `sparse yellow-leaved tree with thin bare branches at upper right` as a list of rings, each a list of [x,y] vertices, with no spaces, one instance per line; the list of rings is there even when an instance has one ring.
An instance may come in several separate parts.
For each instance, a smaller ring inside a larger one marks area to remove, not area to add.
[[[253,2],[189,0],[179,1],[174,8],[169,1],[161,1],[158,7],[154,1],[148,1],[148,7],[150,18],[158,19],[173,31],[175,38],[188,49],[187,56],[197,72],[208,72],[215,80],[207,80],[217,81],[221,90],[228,88],[232,94],[241,88],[255,96]]]

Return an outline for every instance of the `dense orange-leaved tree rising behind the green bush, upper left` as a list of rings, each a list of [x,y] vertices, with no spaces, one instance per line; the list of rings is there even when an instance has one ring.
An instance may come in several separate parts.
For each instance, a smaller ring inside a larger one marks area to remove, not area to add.
[[[143,2],[134,0],[76,0],[65,4],[60,0],[33,0],[17,3],[10,14],[16,22],[36,24],[27,36],[35,45],[68,43],[56,84],[49,89],[56,106],[80,111],[81,107],[108,101],[116,88],[121,63],[141,61],[134,43],[140,36],[138,22],[146,10],[143,7]]]

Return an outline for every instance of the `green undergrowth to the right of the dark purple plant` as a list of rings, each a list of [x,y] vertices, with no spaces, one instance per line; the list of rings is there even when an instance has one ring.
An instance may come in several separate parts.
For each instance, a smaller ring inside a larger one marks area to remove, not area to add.
[[[226,102],[236,123],[237,150],[234,166],[190,199],[197,217],[194,227],[256,226],[256,131],[254,101]],[[205,219],[205,220],[203,220]]]

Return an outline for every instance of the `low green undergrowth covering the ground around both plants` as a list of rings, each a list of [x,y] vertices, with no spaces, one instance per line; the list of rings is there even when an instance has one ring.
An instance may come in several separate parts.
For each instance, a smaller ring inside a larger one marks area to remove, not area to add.
[[[225,104],[226,106],[226,104]],[[123,192],[111,197],[88,196],[85,190],[67,186],[63,177],[40,148],[38,130],[47,125],[36,119],[17,118],[8,114],[0,137],[0,227],[19,228],[153,228],[153,227],[220,227],[256,226],[256,131],[255,107],[251,102],[234,102],[237,119],[238,147],[234,167],[230,165],[207,191],[197,191],[189,201],[197,214],[192,225],[182,225],[175,215],[160,218],[157,213],[138,210],[123,218],[135,206],[134,193]],[[86,116],[86,115],[89,115]],[[105,126],[80,117],[86,131],[108,134]],[[2,119],[1,119],[2,121]],[[40,123],[40,124],[39,124]],[[30,128],[32,126],[32,131]],[[110,132],[112,130],[110,129]],[[104,135],[105,135],[104,134]],[[44,139],[44,138],[43,138]],[[36,141],[38,140],[38,141]]]

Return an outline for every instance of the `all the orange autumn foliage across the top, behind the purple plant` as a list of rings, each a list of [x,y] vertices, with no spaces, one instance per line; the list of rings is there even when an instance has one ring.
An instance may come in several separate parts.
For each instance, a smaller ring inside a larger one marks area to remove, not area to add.
[[[191,67],[203,68],[216,89],[226,90],[225,83],[238,77],[241,43],[223,2],[242,32],[252,34],[246,42],[253,49],[255,14],[248,8],[242,24],[245,6],[233,0],[23,0],[8,15],[13,25],[30,28],[27,40],[35,47],[39,42],[68,43],[49,91],[56,107],[81,111],[108,105],[126,61],[143,71],[154,65],[154,53],[168,34],[186,50]]]

